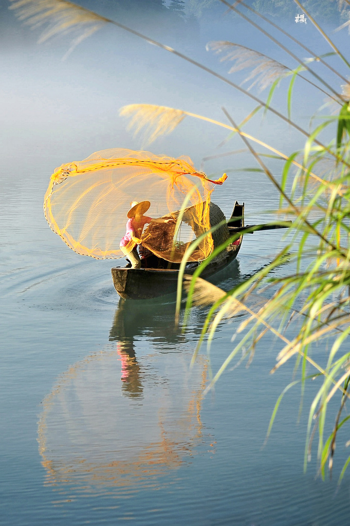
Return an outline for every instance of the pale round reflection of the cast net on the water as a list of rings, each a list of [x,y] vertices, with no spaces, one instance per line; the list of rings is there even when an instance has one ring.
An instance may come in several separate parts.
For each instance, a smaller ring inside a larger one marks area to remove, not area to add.
[[[205,359],[189,376],[182,353],[167,353],[161,362],[153,355],[139,363],[128,358],[123,341],[117,350],[89,356],[43,400],[38,441],[47,484],[87,495],[156,489],[159,477],[196,451],[203,440]]]

